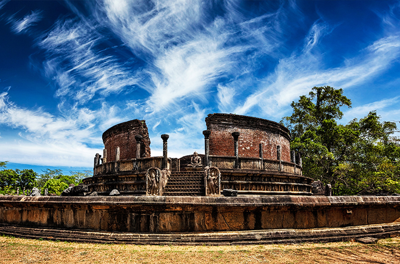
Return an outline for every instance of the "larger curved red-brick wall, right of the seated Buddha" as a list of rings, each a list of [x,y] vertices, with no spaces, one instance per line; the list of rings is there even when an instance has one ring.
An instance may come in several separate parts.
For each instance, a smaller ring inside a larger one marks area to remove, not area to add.
[[[276,146],[280,146],[281,160],[290,162],[289,130],[279,123],[237,114],[208,114],[207,130],[210,134],[210,155],[234,156],[232,132],[240,132],[239,156],[259,157],[262,144],[263,158],[277,159]]]

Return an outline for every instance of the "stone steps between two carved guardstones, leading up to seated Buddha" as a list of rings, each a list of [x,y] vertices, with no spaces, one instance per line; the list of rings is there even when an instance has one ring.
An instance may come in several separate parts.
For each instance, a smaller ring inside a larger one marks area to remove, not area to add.
[[[164,196],[204,196],[203,171],[173,171],[164,188]]]

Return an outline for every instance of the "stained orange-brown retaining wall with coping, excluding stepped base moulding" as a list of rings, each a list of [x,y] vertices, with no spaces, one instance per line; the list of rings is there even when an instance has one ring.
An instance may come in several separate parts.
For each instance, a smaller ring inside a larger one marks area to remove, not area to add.
[[[400,221],[400,197],[0,196],[0,223],[144,233],[315,229]]]

